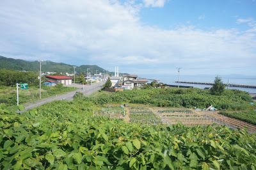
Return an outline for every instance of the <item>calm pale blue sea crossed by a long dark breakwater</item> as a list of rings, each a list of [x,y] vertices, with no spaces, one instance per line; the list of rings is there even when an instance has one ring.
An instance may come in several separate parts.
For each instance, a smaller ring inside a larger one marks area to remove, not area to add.
[[[143,76],[143,75],[142,75]],[[150,77],[150,75],[145,75],[147,79],[157,79],[157,82],[163,82],[168,85],[178,85],[178,75],[155,75]],[[180,75],[179,81],[189,81],[189,82],[214,82],[216,75]],[[243,75],[223,75],[221,76],[223,83],[227,84],[245,84],[245,85],[256,85],[256,77],[248,77]],[[151,82],[151,81],[149,81]],[[193,88],[211,88],[211,85],[204,84],[186,84],[180,83],[180,86],[193,86]],[[239,89],[241,91],[246,91],[248,93],[256,93],[256,88],[237,88],[237,87],[226,87],[226,89]]]

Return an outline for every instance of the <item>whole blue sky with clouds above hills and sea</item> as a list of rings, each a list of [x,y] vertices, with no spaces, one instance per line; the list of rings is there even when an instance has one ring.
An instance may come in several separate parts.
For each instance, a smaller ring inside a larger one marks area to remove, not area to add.
[[[255,0],[0,1],[0,56],[143,75],[256,77]]]

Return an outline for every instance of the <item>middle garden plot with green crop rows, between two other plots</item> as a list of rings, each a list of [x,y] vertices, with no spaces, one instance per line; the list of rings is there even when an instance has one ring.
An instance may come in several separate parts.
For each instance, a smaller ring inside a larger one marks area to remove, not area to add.
[[[147,125],[157,125],[163,123],[154,112],[150,111],[147,107],[132,107],[129,114],[131,123],[141,123]]]

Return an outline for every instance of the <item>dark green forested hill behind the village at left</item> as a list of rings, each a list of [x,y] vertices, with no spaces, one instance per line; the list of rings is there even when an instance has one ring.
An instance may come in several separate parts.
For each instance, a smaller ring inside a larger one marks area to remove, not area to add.
[[[38,72],[40,70],[40,64],[38,61],[24,61],[22,59],[13,59],[13,58],[4,58],[0,56],[0,68],[8,70],[19,70],[19,71],[31,71]],[[103,68],[100,68],[97,65],[81,65],[76,66],[76,72],[81,73],[87,72],[87,68],[90,68],[88,72],[96,73],[96,70],[99,72],[104,72]],[[72,73],[74,68],[72,65],[67,65],[65,63],[55,63],[52,61],[42,61],[42,72],[63,72],[63,73]],[[106,71],[105,71],[106,72]]]

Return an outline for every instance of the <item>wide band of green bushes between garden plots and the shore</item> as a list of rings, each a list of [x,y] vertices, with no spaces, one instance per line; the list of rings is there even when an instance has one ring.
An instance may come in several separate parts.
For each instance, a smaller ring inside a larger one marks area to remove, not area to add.
[[[221,96],[211,95],[208,90],[198,88],[164,88],[164,89],[135,89],[120,91],[118,93],[103,93],[97,98],[88,97],[95,104],[120,104],[130,102],[132,104],[152,104],[159,107],[186,107],[207,108],[213,105],[217,109],[245,110],[250,108],[252,97],[246,92],[225,89]]]

